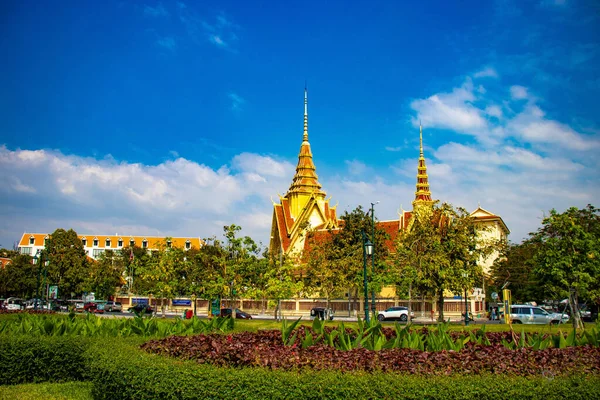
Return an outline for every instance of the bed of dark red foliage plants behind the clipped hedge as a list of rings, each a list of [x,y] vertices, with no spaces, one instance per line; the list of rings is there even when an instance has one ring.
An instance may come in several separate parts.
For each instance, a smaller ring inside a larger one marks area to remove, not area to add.
[[[386,336],[388,334],[390,332],[386,332]],[[322,342],[307,348],[284,346],[281,332],[277,330],[229,335],[170,336],[151,340],[143,344],[142,349],[216,366],[254,366],[281,370],[393,371],[418,375],[492,373],[518,376],[600,373],[598,347],[511,350],[500,344],[502,339],[510,339],[509,332],[486,335],[491,343],[489,346],[467,343],[461,351],[438,352],[411,349],[370,351],[364,348],[342,351]]]

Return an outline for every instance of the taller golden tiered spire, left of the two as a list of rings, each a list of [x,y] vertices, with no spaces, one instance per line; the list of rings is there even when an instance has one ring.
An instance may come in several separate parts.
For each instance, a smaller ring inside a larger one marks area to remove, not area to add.
[[[310,143],[308,142],[308,90],[304,87],[304,134],[302,135],[302,145],[298,155],[298,165],[296,174],[290,185],[289,193],[315,193],[325,197],[325,192],[321,191],[321,184],[316,173],[316,167],[313,163]]]

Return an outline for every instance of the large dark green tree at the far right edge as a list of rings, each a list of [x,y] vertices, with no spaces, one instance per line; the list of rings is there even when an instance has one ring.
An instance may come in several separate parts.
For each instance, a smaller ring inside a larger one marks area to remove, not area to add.
[[[530,241],[537,245],[535,274],[546,288],[569,299],[573,326],[581,327],[579,300],[600,299],[600,210],[551,210]]]

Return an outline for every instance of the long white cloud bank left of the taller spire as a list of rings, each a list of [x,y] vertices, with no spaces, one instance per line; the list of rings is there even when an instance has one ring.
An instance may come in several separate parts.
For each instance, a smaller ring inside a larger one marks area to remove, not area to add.
[[[232,167],[214,169],[184,158],[119,163],[2,146],[0,213],[6,224],[0,243],[10,245],[24,230],[60,227],[207,237],[221,234],[216,221],[247,221],[244,234],[266,243],[269,197],[287,189],[294,167],[251,153],[234,157]]]

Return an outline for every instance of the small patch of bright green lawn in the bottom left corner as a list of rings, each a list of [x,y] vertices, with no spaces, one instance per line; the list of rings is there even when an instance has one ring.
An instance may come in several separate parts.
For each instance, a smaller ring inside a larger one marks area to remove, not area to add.
[[[0,400],[90,400],[91,382],[29,383],[0,386]]]

